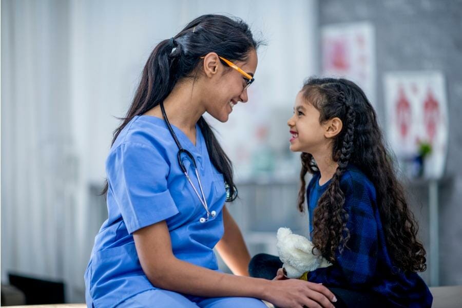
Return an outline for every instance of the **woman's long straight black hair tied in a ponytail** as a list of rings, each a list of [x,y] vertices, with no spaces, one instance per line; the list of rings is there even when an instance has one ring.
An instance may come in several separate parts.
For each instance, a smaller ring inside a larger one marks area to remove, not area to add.
[[[257,50],[248,25],[236,17],[202,15],[191,21],[180,33],[160,42],[149,55],[141,82],[122,124],[115,129],[112,143],[133,119],[159,105],[179,80],[197,78],[201,56],[216,52],[230,61],[245,61],[248,52]],[[227,67],[227,66],[226,66]],[[208,155],[215,168],[223,174],[234,194],[232,163],[221,148],[214,132],[201,117],[198,125],[207,145]],[[106,194],[108,183],[102,191]]]

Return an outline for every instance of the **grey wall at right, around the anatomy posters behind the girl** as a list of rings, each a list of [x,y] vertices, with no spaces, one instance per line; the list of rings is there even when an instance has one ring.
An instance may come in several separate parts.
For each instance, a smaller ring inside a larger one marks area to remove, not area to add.
[[[446,78],[449,149],[445,180],[439,184],[440,285],[462,284],[462,1],[322,0],[320,25],[368,21],[375,26],[377,112],[384,123],[384,72],[440,70]],[[411,206],[428,249],[425,183],[407,185]],[[431,256],[428,256],[428,259]],[[428,281],[428,272],[422,277]]]

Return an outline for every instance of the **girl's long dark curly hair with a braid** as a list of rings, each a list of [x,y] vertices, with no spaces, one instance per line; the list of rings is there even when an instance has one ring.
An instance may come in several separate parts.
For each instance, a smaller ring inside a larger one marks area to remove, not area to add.
[[[304,100],[319,112],[319,122],[335,117],[342,123],[333,139],[332,159],[338,163],[331,183],[313,213],[313,245],[333,262],[336,249],[342,253],[350,238],[348,214],[343,208],[341,176],[349,163],[374,184],[383,232],[394,266],[402,271],[425,271],[426,252],[417,240],[417,223],[408,208],[405,192],[396,178],[392,157],[384,146],[377,116],[364,92],[345,79],[309,79],[301,90]],[[301,187],[298,207],[304,210],[306,172],[318,172],[310,153],[301,154]]]

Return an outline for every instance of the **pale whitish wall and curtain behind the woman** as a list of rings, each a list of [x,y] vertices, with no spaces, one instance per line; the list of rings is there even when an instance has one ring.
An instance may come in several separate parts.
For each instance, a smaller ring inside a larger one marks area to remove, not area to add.
[[[2,0],[3,281],[11,270],[64,279],[68,300],[84,300],[95,235],[89,187],[105,178],[114,117],[127,110],[159,41],[220,12],[243,18],[268,42],[249,103],[216,125],[245,178],[251,161],[236,148],[255,150],[249,131],[266,125],[268,143],[283,151],[295,94],[317,72],[316,0]]]

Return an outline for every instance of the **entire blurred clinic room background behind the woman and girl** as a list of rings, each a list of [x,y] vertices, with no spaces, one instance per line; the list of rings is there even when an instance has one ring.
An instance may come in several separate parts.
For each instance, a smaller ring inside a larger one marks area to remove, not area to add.
[[[267,43],[249,102],[227,123],[207,118],[234,162],[228,208],[251,253],[277,254],[278,227],[307,234],[286,121],[305,78],[346,76],[396,153],[427,249],[421,276],[462,284],[462,1],[2,0],[2,290],[46,282],[54,301],[84,302],[117,117],[151,50],[205,13],[241,17]]]

